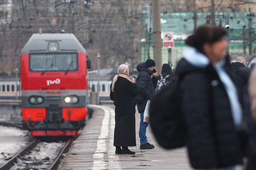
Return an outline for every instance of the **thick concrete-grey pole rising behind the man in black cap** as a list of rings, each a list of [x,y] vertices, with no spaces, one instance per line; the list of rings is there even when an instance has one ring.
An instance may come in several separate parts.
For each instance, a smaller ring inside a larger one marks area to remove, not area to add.
[[[161,43],[161,22],[160,22],[160,0],[152,2],[153,15],[153,56],[158,72],[162,69],[162,43]]]

